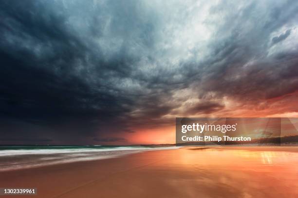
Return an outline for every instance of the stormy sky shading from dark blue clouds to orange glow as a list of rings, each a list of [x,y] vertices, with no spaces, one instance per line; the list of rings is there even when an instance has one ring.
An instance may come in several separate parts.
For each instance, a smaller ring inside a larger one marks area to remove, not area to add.
[[[0,144],[175,141],[297,117],[297,0],[1,0]]]

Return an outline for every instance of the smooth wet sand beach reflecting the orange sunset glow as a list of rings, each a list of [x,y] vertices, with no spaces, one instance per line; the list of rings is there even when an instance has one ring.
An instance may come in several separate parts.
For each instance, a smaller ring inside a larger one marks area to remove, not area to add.
[[[297,198],[297,179],[296,147],[186,147],[0,172],[0,187],[36,187],[34,198]]]

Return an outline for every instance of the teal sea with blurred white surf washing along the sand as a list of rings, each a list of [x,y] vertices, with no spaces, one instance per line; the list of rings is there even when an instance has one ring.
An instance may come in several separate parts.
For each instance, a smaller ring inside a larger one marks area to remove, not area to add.
[[[0,146],[0,171],[78,161],[100,160],[146,150],[174,149],[161,146]]]

